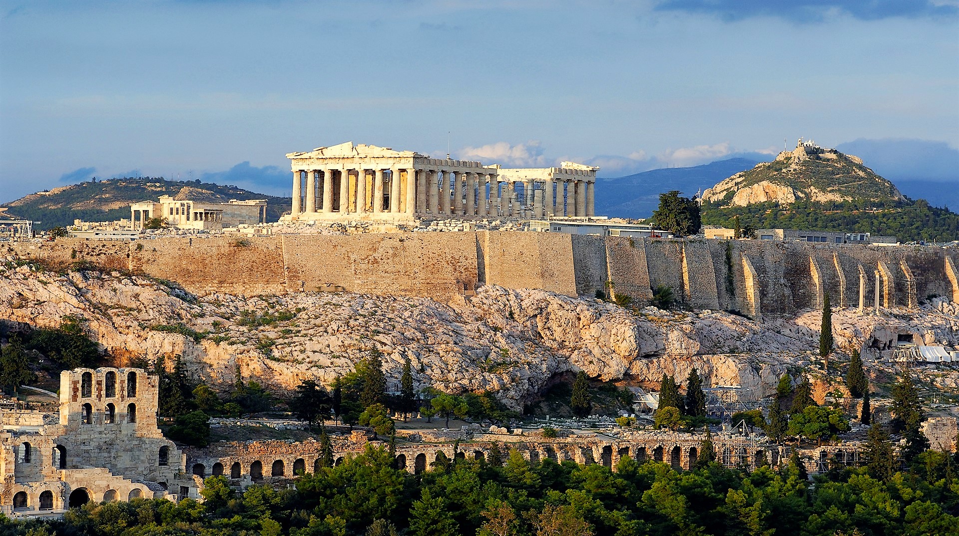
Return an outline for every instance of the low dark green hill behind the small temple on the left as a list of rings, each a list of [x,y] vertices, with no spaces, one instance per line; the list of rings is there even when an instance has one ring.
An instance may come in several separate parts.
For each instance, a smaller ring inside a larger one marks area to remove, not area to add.
[[[2,205],[9,218],[40,221],[37,228],[47,229],[72,224],[74,220],[114,221],[129,218],[129,204],[155,200],[163,195],[176,197],[181,192],[198,200],[267,199],[267,221],[277,221],[290,211],[290,198],[277,198],[198,180],[165,180],[163,177],[123,177],[97,182],[82,182],[32,194]]]

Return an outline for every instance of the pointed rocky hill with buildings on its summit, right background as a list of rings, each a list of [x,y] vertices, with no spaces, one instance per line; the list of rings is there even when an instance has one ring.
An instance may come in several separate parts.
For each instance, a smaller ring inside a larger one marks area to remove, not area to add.
[[[702,199],[723,207],[904,198],[892,182],[876,175],[860,158],[800,140],[795,150],[780,152],[772,162],[757,164],[719,182],[706,190]]]

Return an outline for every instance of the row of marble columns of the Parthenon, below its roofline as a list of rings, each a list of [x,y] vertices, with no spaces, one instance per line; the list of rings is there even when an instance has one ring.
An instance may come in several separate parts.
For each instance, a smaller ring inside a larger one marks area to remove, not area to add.
[[[373,179],[367,184],[370,171]],[[516,182],[498,178],[472,172],[409,169],[295,171],[292,214],[429,213],[536,219],[596,215],[595,184],[591,181],[524,181],[521,196],[516,191]],[[372,192],[367,193],[370,187]]]

